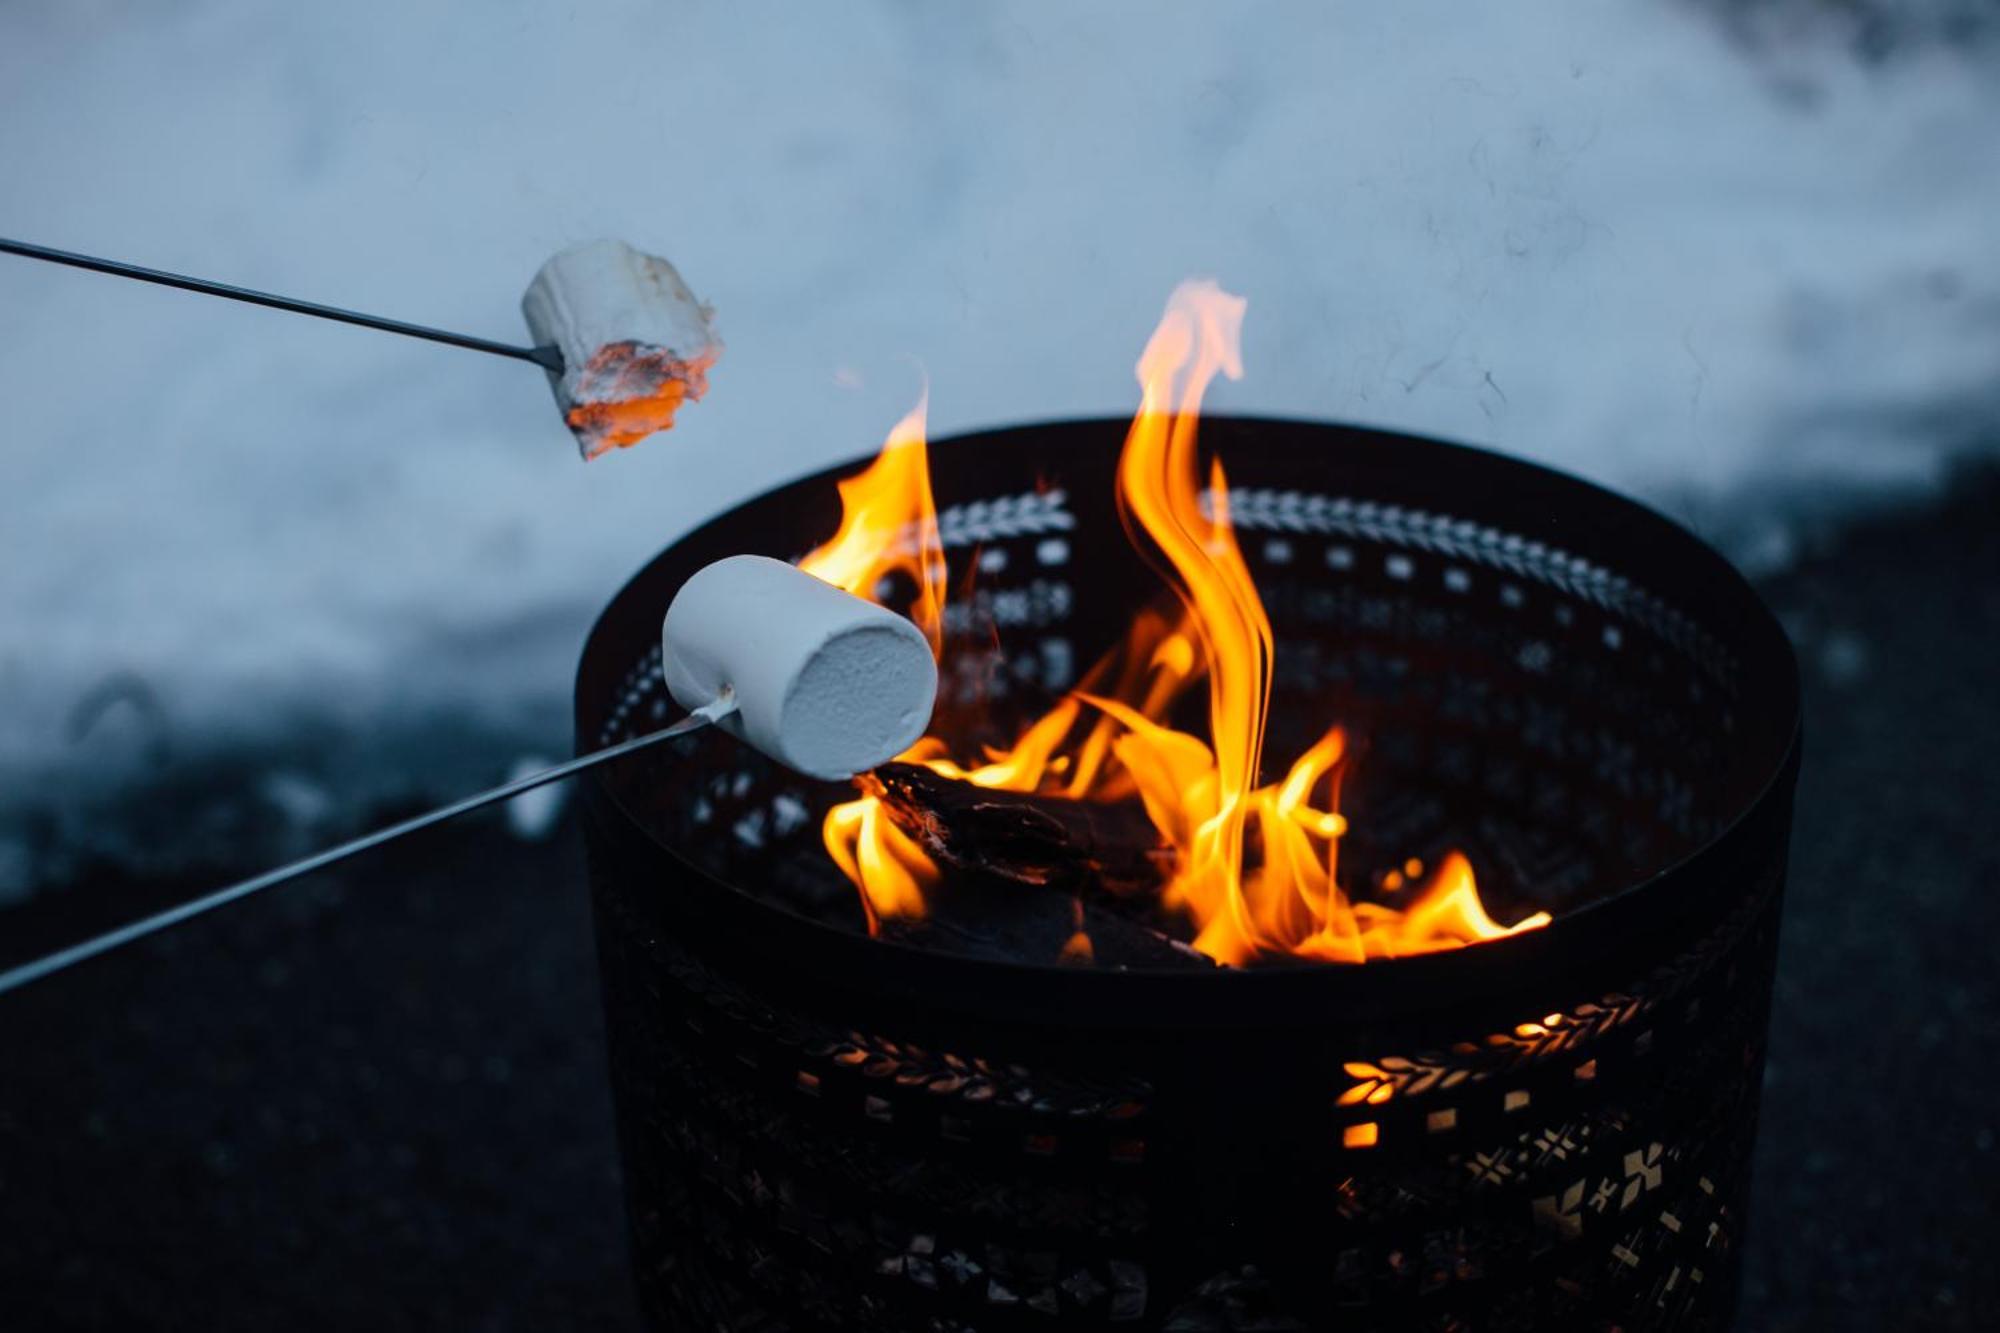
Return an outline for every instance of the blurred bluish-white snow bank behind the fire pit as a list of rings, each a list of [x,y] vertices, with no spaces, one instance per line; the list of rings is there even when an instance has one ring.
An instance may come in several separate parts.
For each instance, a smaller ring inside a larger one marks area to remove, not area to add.
[[[614,234],[730,350],[584,466],[528,366],[0,258],[0,891],[8,811],[162,737],[452,705],[560,747],[662,542],[870,450],[910,356],[938,432],[1128,410],[1192,272],[1250,298],[1218,408],[1494,444],[1782,556],[1994,438],[1994,70],[1636,0],[8,6],[0,232],[502,338]]]

